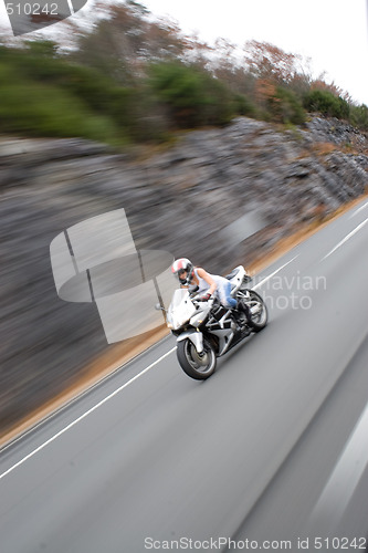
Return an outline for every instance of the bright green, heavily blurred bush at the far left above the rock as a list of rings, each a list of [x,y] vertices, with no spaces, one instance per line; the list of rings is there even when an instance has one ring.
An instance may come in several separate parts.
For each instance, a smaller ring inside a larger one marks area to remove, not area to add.
[[[1,133],[125,144],[132,97],[98,72],[55,56],[49,43],[0,49]]]

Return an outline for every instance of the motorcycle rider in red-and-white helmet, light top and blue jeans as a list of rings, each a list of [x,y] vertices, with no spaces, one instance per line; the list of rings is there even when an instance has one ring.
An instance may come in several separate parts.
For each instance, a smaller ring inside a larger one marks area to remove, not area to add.
[[[210,274],[201,267],[193,267],[187,258],[175,260],[171,272],[179,279],[180,288],[198,286],[197,292],[202,294],[199,301],[207,302],[217,293],[220,303],[224,307],[234,310],[238,320],[241,313],[245,314],[246,321],[251,322],[249,307],[241,300],[236,301],[231,295],[231,282],[219,274]]]

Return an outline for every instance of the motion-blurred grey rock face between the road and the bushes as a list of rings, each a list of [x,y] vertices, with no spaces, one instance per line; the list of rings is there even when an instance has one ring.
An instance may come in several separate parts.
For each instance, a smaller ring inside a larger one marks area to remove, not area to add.
[[[80,139],[0,140],[1,429],[108,347],[95,305],[56,295],[49,247],[57,233],[123,207],[137,248],[223,272],[365,191],[367,139],[354,132],[359,149],[347,150],[346,133],[324,119],[285,132],[238,118],[138,156]],[[249,211],[265,228],[231,243],[223,229]]]

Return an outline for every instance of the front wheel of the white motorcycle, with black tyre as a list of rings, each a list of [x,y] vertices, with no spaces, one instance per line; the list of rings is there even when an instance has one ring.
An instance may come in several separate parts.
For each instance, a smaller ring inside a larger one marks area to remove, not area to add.
[[[177,355],[182,371],[196,380],[206,380],[214,373],[215,354],[206,340],[203,340],[202,355],[197,352],[189,338],[178,342]]]

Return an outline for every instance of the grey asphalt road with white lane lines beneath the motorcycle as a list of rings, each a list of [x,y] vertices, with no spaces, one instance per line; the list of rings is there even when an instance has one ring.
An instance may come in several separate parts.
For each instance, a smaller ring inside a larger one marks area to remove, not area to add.
[[[270,324],[211,378],[166,338],[3,449],[1,553],[365,550],[367,243],[364,201],[255,279]]]

